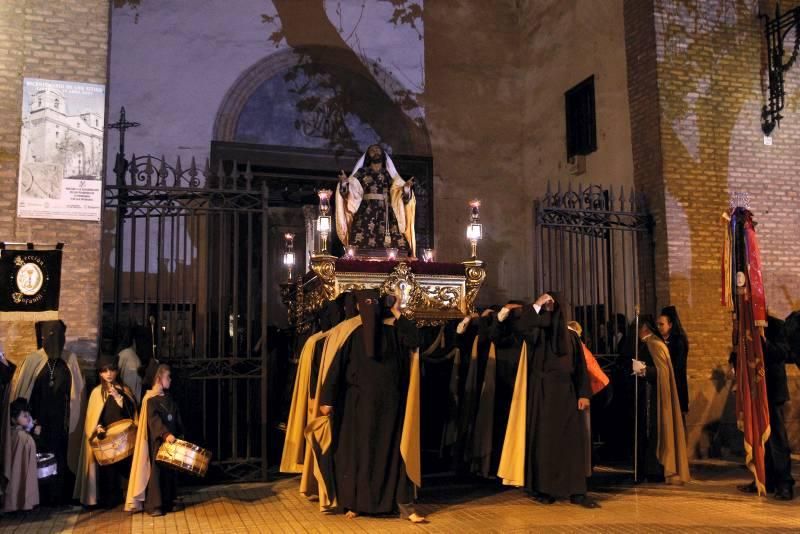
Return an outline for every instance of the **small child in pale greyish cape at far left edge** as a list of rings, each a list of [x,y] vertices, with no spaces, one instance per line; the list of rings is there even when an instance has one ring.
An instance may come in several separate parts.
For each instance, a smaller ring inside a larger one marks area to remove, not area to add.
[[[31,510],[39,504],[36,444],[31,433],[40,433],[41,427],[35,424],[24,398],[18,398],[8,408],[11,415],[11,433],[8,436],[11,463],[3,511]]]

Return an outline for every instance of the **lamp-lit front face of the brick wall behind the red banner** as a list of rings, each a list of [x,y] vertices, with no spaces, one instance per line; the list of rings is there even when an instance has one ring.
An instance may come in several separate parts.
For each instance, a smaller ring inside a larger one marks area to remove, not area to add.
[[[751,194],[770,309],[783,317],[800,304],[791,283],[800,279],[793,242],[800,222],[800,72],[790,71],[789,110],[773,145],[765,146],[759,3],[696,2],[688,11],[679,4],[655,5],[668,294],[695,332],[693,367],[709,369],[726,361],[730,346],[730,317],[718,303],[719,216],[731,192]],[[772,13],[773,6],[763,7]]]

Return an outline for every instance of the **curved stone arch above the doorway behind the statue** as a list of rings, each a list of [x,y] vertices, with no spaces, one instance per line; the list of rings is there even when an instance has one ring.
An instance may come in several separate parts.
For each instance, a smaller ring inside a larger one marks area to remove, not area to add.
[[[366,107],[363,101],[358,104],[359,118],[366,124],[375,128],[381,137],[391,138],[388,142],[395,153],[429,156],[431,154],[430,137],[424,117],[412,119],[402,111],[401,105],[392,101],[387,96],[387,90],[393,92],[404,89],[404,86],[379,62],[370,61],[369,70],[380,77],[382,84],[375,78],[367,79],[362,72],[355,72],[352,68],[353,52],[340,50],[333,47],[313,46],[297,49],[280,50],[270,54],[246,69],[231,85],[222,99],[214,121],[213,139],[216,141],[236,141],[236,133],[242,113],[251,97],[259,90],[262,84],[276,76],[281,76],[296,67],[301,58],[311,58],[318,65],[330,68],[349,77],[349,85],[354,87],[356,93],[364,90],[364,95],[377,94],[380,91],[384,104],[383,109]],[[382,86],[382,87],[381,87]],[[355,99],[357,100],[358,96]],[[365,99],[366,100],[366,99]],[[386,104],[388,102],[388,104]],[[390,109],[387,109],[390,108]],[[388,127],[387,122],[397,127]],[[383,141],[383,140],[382,140]],[[362,147],[363,148],[363,147]]]

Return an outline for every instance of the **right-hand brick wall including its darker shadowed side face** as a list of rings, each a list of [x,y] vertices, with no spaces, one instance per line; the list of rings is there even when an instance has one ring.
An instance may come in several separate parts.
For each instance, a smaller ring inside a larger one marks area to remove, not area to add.
[[[765,146],[758,13],[773,14],[774,1],[637,0],[625,7],[635,179],[648,191],[656,219],[658,305],[678,306],[691,341],[690,442],[698,455],[726,441],[737,449],[724,376],[731,318],[719,304],[719,220],[731,192],[750,193],[768,307],[778,317],[800,308],[800,69],[787,75],[785,119]],[[790,371],[794,391],[796,371]],[[798,401],[789,416],[795,437]]]

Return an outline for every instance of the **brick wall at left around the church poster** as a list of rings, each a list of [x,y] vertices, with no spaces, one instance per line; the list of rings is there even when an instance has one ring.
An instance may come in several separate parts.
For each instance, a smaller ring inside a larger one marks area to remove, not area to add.
[[[108,0],[0,2],[0,240],[66,243],[60,315],[70,348],[94,358],[98,339],[100,224],[16,216],[22,80],[105,84]],[[35,349],[33,323],[0,323],[9,357]]]

